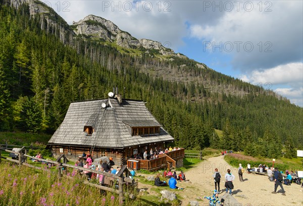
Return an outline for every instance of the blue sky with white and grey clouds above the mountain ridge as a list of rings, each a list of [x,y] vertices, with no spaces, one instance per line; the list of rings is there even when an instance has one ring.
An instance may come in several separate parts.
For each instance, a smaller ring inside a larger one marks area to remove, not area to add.
[[[89,14],[303,107],[303,1],[42,1],[69,24]]]

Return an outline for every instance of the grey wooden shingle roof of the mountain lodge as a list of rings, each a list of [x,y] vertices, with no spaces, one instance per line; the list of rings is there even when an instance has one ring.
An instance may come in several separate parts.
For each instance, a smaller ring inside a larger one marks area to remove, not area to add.
[[[92,135],[84,132],[85,126],[93,128]],[[132,136],[130,127],[160,127],[160,134]],[[143,101],[123,99],[120,105],[116,98],[110,98],[71,103],[48,144],[124,148],[172,140]]]

